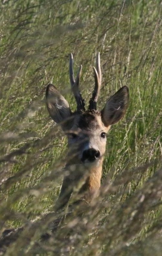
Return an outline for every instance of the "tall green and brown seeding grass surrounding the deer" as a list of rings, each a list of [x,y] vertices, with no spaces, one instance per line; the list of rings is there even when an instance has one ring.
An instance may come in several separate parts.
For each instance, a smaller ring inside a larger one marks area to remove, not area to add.
[[[20,248],[21,255],[161,255],[161,8],[159,0],[2,1],[0,232],[31,227],[6,255],[20,255]],[[75,71],[83,65],[88,104],[97,51],[103,80],[98,106],[127,85],[129,108],[107,136],[100,199],[36,248],[56,218],[48,217],[66,156],[66,139],[46,110],[46,85],[55,84],[76,108],[68,77],[72,52]]]

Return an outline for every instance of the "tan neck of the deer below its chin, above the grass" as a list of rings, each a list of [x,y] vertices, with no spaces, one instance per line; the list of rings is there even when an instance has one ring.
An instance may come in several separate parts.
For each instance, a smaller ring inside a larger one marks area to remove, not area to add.
[[[65,167],[66,175],[63,179],[56,209],[62,208],[68,202],[74,188],[77,186],[80,199],[90,203],[100,188],[102,163],[103,158],[100,159],[97,167],[92,166],[87,169],[84,165],[68,162]],[[80,201],[79,197],[76,202]]]

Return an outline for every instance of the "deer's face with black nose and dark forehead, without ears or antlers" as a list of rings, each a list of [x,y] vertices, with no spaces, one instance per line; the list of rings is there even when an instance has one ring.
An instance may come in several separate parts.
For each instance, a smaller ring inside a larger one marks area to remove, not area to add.
[[[69,154],[76,164],[99,165],[106,149],[106,127],[99,112],[85,112],[74,116],[67,132]]]

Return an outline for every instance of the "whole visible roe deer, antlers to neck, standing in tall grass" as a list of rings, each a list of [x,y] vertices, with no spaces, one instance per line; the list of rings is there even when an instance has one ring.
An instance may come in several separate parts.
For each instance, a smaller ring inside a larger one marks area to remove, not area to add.
[[[89,101],[88,110],[79,91],[79,80],[82,71],[80,66],[76,80],[73,72],[73,55],[70,55],[70,83],[74,93],[77,110],[72,113],[68,102],[52,84],[46,89],[47,109],[52,119],[61,125],[68,137],[68,157],[65,167],[61,192],[57,209],[68,202],[76,182],[84,176],[84,182],[78,190],[81,199],[91,201],[100,188],[103,156],[106,150],[106,133],[112,124],[117,123],[125,114],[128,106],[129,91],[127,86],[120,88],[111,96],[105,107],[100,111],[96,103],[101,88],[100,54],[96,58],[96,68],[93,67],[95,88]]]

